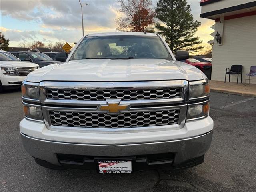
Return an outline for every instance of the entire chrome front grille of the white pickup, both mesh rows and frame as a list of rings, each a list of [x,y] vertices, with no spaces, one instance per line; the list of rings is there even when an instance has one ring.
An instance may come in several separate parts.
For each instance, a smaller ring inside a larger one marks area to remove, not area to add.
[[[40,82],[46,127],[70,132],[143,132],[182,128],[188,81]],[[110,104],[128,106],[110,112]],[[105,106],[102,109],[102,106]]]

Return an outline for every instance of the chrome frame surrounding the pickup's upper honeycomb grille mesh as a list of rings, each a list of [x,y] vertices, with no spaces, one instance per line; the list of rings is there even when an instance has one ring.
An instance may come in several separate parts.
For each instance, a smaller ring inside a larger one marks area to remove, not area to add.
[[[154,103],[154,102],[186,102],[188,94],[188,81],[186,80],[168,80],[168,81],[144,81],[144,82],[40,82],[40,100],[42,104],[63,104],[63,105],[84,105],[84,104],[104,104],[105,101],[92,100],[65,100],[46,98],[47,89],[71,89],[71,90],[136,90],[136,89],[156,89],[156,88],[183,88],[180,98],[170,99],[147,99],[143,100],[125,100],[122,102],[136,103]],[[153,100],[153,101],[151,101]]]

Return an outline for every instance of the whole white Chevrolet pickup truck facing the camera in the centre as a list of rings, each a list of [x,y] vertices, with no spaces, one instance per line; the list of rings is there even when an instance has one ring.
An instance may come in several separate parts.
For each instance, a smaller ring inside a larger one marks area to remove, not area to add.
[[[184,52],[181,52],[184,53]],[[209,84],[158,34],[83,37],[66,62],[22,84],[20,134],[36,163],[99,173],[182,169],[204,162],[212,140]]]

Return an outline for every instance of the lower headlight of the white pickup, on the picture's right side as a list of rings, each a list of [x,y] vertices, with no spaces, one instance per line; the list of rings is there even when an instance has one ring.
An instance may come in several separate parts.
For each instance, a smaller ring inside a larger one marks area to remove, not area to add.
[[[209,102],[205,104],[195,104],[188,106],[187,120],[204,118],[209,113]]]

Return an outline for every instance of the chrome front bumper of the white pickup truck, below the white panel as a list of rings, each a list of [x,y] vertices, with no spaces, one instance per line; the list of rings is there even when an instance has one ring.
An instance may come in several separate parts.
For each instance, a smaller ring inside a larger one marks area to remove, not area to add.
[[[94,157],[125,157],[159,153],[175,153],[173,165],[204,155],[210,148],[212,131],[180,140],[151,142],[140,144],[100,145],[75,144],[46,141],[31,138],[21,133],[26,151],[34,158],[60,165],[56,154],[74,154]]]

